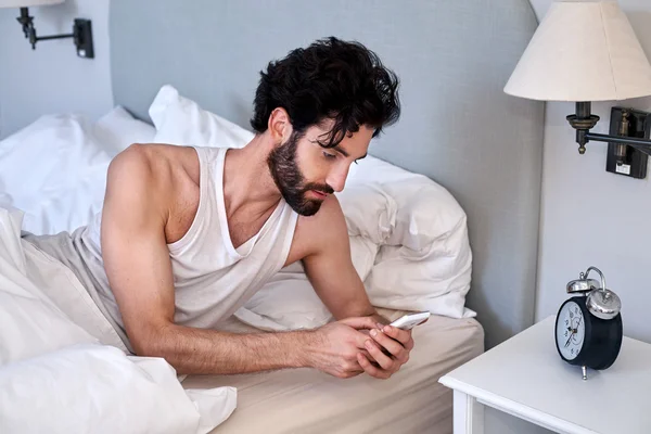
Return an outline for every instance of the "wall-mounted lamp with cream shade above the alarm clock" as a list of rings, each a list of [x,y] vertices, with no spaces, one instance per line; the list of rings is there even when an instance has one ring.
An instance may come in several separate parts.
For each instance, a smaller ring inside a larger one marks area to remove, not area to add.
[[[651,155],[649,127],[643,125],[648,114],[617,107],[613,110],[617,122],[611,119],[610,136],[590,132],[599,122],[599,116],[590,113],[592,101],[651,94],[651,65],[615,0],[552,3],[505,92],[532,100],[576,102],[576,113],[567,116],[567,122],[576,129],[578,152],[585,153],[590,140],[611,142],[609,158],[614,154],[617,166],[622,166],[633,164],[635,156],[643,164],[646,176],[648,158],[640,158],[639,152]],[[638,169],[634,171],[638,174]],[[622,169],[609,171],[630,175]]]

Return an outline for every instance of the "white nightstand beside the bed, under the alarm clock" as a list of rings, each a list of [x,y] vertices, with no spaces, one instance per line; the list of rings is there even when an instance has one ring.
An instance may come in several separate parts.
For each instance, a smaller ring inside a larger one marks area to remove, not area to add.
[[[559,433],[651,433],[651,345],[624,337],[613,366],[583,380],[557,353],[554,318],[441,378],[455,391],[455,434],[483,433],[484,406]]]

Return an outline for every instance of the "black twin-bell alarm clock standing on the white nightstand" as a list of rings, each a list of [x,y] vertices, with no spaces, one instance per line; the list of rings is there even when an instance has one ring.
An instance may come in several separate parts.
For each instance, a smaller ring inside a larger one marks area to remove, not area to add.
[[[601,276],[601,282],[588,279],[590,271]],[[610,368],[622,347],[622,303],[605,288],[603,273],[589,267],[578,280],[567,283],[573,296],[566,299],[557,315],[554,337],[561,358],[570,365],[582,367],[587,380],[587,368]]]

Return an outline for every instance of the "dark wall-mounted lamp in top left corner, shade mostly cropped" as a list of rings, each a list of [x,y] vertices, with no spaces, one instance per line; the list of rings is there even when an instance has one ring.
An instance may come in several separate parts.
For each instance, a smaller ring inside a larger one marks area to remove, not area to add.
[[[25,38],[31,43],[31,49],[36,50],[36,42],[49,40],[49,39],[63,39],[73,38],[75,47],[77,48],[77,55],[79,58],[94,58],[94,51],[92,47],[92,28],[90,20],[76,18],[73,25],[72,34],[64,35],[50,35],[50,36],[37,36],[36,28],[34,27],[34,17],[29,16],[29,7],[40,7],[49,4],[63,3],[64,0],[0,0],[0,8],[20,8],[21,16],[16,20],[23,26],[23,33]]]

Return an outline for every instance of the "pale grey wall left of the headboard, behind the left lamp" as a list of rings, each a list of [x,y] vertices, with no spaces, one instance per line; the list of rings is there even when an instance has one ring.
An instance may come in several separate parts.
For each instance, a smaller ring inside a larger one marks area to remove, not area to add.
[[[16,22],[18,9],[0,9],[0,138],[50,113],[97,118],[111,110],[108,0],[67,0],[30,8],[37,34],[68,34],[75,17],[92,20],[95,59],[79,59],[72,39],[31,50]]]

